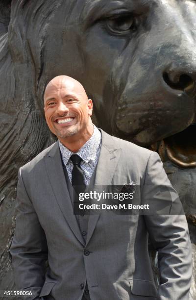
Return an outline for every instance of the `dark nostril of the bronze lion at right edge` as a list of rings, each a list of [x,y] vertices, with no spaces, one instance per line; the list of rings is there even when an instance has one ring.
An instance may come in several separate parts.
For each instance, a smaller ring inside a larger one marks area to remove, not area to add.
[[[163,79],[172,89],[186,93],[191,93],[196,86],[196,72],[175,66],[170,66],[163,73]]]

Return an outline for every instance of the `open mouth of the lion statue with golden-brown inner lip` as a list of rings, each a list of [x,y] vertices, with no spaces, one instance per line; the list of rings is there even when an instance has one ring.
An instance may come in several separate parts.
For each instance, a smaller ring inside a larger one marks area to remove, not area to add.
[[[196,167],[196,124],[151,145],[161,156],[162,161],[171,160],[182,168]]]

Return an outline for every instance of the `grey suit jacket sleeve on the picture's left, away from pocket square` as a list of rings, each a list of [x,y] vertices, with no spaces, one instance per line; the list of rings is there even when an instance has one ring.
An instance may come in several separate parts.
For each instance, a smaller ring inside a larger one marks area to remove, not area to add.
[[[10,253],[16,288],[31,291],[32,297],[27,299],[33,300],[39,299],[45,281],[48,248],[44,230],[26,192],[21,168],[18,178],[16,228]]]

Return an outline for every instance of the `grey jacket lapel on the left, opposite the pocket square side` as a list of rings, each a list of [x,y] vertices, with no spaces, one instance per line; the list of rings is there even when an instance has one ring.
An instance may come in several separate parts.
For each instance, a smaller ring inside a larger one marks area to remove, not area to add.
[[[56,201],[74,235],[84,246],[84,240],[76,218],[73,215],[73,206],[65,180],[58,142],[54,144],[54,147],[49,151],[48,155],[45,156],[45,165]]]

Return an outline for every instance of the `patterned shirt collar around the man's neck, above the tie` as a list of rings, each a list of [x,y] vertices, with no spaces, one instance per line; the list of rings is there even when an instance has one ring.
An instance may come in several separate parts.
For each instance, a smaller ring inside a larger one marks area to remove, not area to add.
[[[86,163],[90,160],[95,160],[97,150],[101,142],[101,133],[98,128],[94,125],[94,132],[90,139],[77,151],[77,153],[72,152],[67,147],[65,147],[59,140],[59,148],[61,151],[62,159],[66,165],[72,154],[79,155]]]

